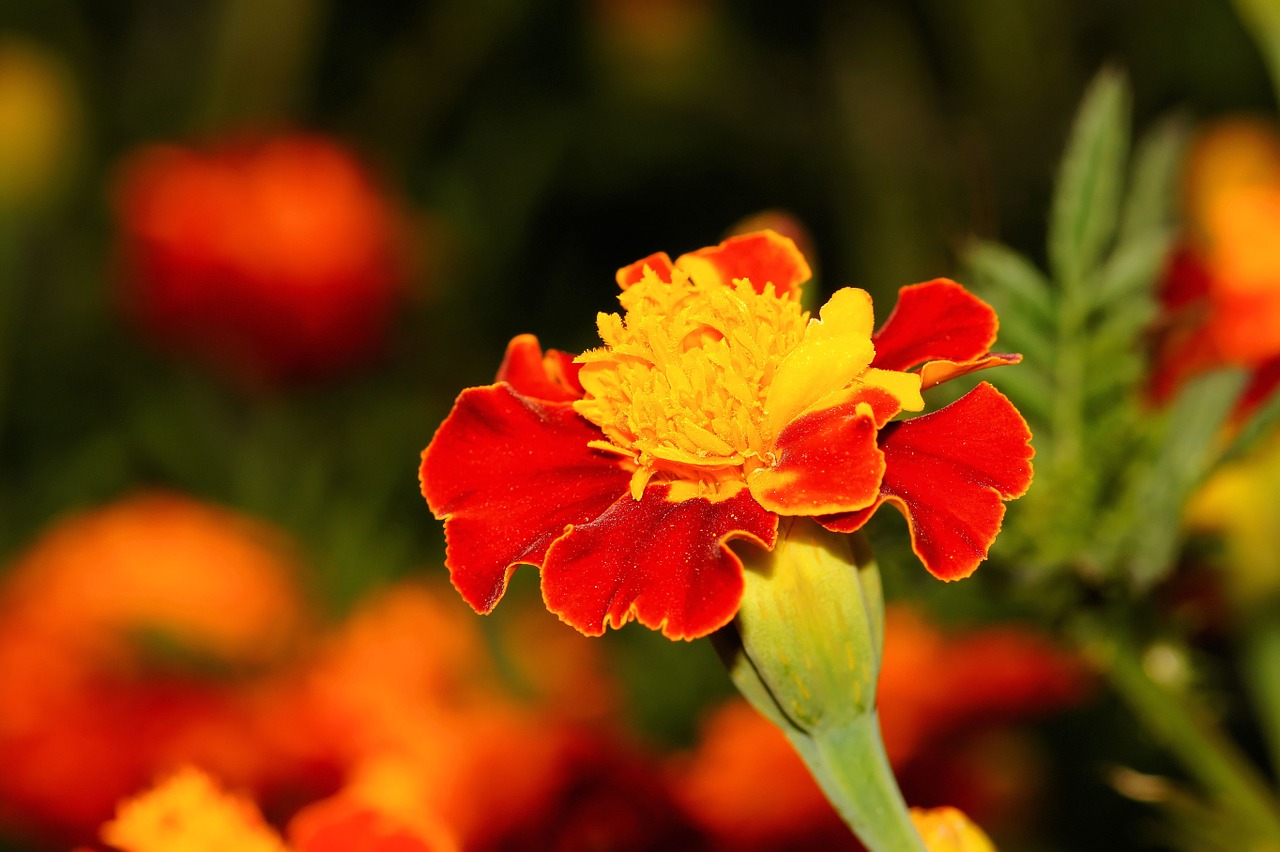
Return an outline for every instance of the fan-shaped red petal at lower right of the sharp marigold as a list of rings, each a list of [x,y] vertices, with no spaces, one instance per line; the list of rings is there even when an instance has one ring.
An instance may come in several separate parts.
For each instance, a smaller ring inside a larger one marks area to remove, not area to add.
[[[982,383],[946,408],[881,430],[886,468],[879,499],[820,521],[851,532],[887,500],[906,516],[911,549],[929,573],[968,577],[1000,532],[1002,500],[1030,486],[1030,436],[1012,403]]]

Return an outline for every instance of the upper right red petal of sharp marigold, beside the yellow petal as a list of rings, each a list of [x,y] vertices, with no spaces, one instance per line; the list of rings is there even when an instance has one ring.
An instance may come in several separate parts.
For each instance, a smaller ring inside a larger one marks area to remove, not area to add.
[[[911,284],[899,290],[893,312],[872,335],[872,366],[905,371],[925,361],[974,361],[991,349],[998,327],[991,306],[955,281]]]

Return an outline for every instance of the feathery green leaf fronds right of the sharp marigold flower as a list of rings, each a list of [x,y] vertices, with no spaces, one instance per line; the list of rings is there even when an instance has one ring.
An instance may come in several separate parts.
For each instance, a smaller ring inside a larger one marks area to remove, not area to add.
[[[1178,120],[1156,127],[1130,165],[1128,105],[1114,70],[1084,97],[1050,215],[1048,275],[991,242],[970,246],[965,261],[1000,312],[1002,344],[1024,356],[1001,385],[1036,436],[1036,484],[1001,551],[1041,572],[1147,586],[1172,563],[1178,516],[1216,458],[1240,380],[1204,377],[1165,412],[1144,400],[1185,130]]]

